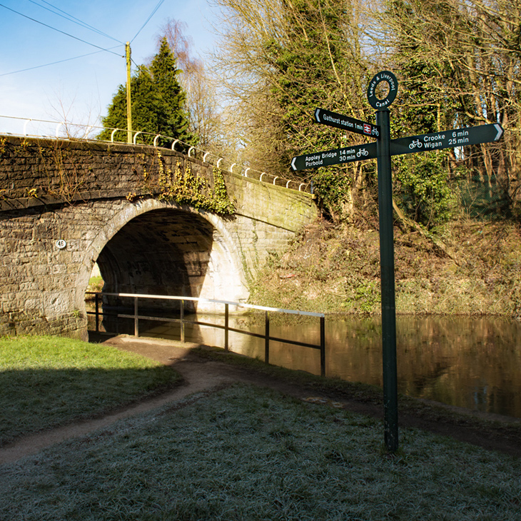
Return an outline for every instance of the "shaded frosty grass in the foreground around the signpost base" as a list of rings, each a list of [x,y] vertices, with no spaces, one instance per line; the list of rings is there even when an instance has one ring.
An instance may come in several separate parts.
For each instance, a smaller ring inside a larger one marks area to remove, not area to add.
[[[519,520],[521,461],[235,385],[0,472],[16,520]]]

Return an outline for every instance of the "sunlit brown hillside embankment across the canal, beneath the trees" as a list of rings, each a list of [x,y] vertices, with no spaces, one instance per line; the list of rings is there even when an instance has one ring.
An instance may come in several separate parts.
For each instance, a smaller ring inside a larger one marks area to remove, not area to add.
[[[521,318],[521,226],[453,221],[435,234],[395,226],[399,314]],[[380,313],[378,221],[305,228],[251,282],[260,305],[324,313]]]

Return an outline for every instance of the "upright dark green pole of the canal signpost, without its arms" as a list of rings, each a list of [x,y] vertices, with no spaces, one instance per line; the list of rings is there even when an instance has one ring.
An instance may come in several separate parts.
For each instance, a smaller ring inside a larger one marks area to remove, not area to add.
[[[393,181],[390,156],[390,113],[376,112],[378,210],[380,214],[380,283],[382,290],[382,350],[384,440],[390,452],[398,450],[398,378],[396,364],[395,258],[393,233]]]

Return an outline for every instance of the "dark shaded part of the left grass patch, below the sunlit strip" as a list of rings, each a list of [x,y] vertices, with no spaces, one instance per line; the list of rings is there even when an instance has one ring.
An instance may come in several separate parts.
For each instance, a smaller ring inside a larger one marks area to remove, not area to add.
[[[150,398],[181,381],[171,367],[26,368],[0,372],[0,446]]]

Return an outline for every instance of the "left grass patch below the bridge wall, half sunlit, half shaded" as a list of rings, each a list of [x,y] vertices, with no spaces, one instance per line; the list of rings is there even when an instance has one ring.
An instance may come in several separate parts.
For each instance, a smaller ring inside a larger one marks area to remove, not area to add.
[[[179,376],[148,358],[61,337],[0,338],[0,445],[106,413]]]

